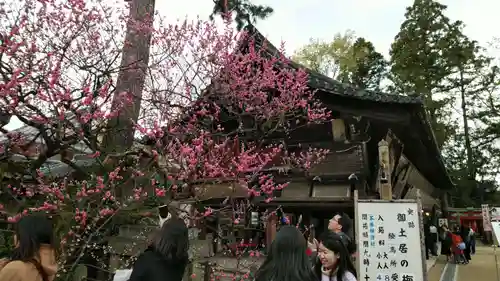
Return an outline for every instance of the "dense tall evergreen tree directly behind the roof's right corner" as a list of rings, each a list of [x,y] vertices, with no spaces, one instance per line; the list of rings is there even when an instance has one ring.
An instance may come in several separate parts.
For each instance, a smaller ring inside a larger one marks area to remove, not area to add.
[[[393,91],[423,98],[440,147],[455,129],[449,124],[447,107],[453,97],[446,95],[444,84],[453,71],[453,42],[462,35],[462,23],[451,21],[443,14],[445,10],[436,1],[415,0],[406,10],[390,51]]]

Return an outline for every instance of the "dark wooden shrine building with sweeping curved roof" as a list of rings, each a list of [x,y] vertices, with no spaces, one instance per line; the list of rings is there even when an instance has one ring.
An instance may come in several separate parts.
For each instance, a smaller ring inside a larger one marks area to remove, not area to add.
[[[265,45],[272,56],[281,56],[279,51],[254,27],[252,34],[257,48]],[[248,49],[243,44],[241,51]],[[303,66],[292,62],[290,67]],[[316,97],[332,112],[330,122],[308,125],[294,130],[289,135],[276,134],[270,141],[284,143],[290,150],[326,148],[330,153],[326,159],[312,167],[307,175],[283,166],[275,159],[267,167],[277,182],[289,182],[275,199],[265,202],[264,197],[253,198],[252,209],[238,214],[241,218],[239,230],[231,230],[236,240],[252,240],[255,243],[270,243],[276,232],[277,220],[264,223],[259,219],[266,210],[280,207],[290,222],[302,218],[303,224],[313,224],[317,232],[324,230],[335,212],[345,212],[354,217],[353,192],[360,199],[381,198],[383,186],[389,186],[392,199],[416,199],[420,190],[425,213],[433,220],[438,214],[446,214],[448,192],[454,184],[445,168],[441,152],[429,124],[421,99],[417,97],[356,89],[325,75],[305,68],[309,74],[309,87]],[[251,138],[251,136],[242,136]],[[381,148],[388,149],[387,159],[381,159]],[[381,163],[385,163],[382,164]],[[228,184],[206,183],[195,186],[198,199],[205,206],[221,206],[231,196],[246,198],[245,188]],[[223,192],[227,191],[227,192]],[[228,214],[223,222],[231,222],[234,214]],[[252,230],[253,229],[253,230]],[[203,232],[203,231],[202,231]],[[271,232],[271,233],[270,233]],[[258,241],[258,242],[257,242]]]

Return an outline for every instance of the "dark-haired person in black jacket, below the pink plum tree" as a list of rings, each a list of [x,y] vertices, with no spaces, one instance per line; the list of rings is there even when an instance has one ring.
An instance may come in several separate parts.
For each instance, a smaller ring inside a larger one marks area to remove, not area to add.
[[[189,263],[188,229],[183,220],[166,221],[134,264],[129,281],[181,281]]]

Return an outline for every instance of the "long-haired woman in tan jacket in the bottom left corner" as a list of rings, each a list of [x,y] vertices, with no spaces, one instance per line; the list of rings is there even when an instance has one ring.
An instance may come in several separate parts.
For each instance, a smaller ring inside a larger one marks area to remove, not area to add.
[[[57,273],[52,222],[42,215],[22,217],[15,226],[14,249],[0,263],[0,281],[52,281]]]

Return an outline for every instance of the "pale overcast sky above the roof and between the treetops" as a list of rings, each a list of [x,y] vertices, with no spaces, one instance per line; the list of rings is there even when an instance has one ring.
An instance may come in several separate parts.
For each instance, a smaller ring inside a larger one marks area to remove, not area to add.
[[[404,20],[405,8],[412,0],[252,0],[271,6],[274,14],[256,24],[259,31],[274,45],[285,43],[288,55],[307,44],[310,38],[329,41],[338,32],[350,29],[357,36],[370,40],[376,49],[388,56],[390,44]],[[208,19],[212,0],[157,0],[156,10],[169,21]],[[500,37],[500,1],[442,0],[448,6],[447,16],[466,24],[465,33],[487,46],[493,37]],[[494,54],[500,57],[500,52]],[[7,129],[20,126],[12,120]]]

